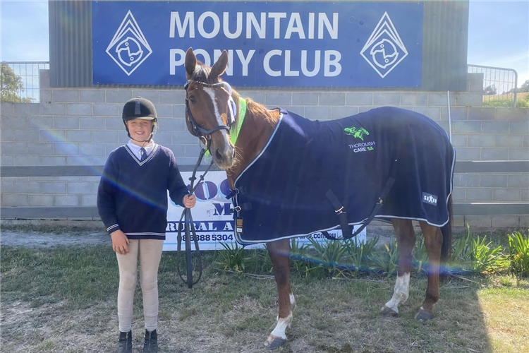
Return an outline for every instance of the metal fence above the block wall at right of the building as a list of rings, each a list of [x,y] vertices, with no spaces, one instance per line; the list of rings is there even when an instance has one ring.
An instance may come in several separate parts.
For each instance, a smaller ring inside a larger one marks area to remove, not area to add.
[[[468,73],[483,75],[483,106],[516,107],[518,73],[512,68],[467,65]]]

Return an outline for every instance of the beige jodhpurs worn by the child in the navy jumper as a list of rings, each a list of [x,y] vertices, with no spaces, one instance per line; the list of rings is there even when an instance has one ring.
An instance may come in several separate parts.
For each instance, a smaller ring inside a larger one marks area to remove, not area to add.
[[[156,330],[158,325],[158,265],[162,258],[164,241],[157,239],[130,239],[128,253],[116,253],[119,267],[118,319],[119,330],[132,329],[134,291],[138,277],[138,250],[140,253],[140,285],[143,297],[145,329]]]

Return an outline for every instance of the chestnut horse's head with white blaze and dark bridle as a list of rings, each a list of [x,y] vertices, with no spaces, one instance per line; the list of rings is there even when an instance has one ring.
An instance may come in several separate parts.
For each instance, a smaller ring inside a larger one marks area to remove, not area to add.
[[[231,168],[235,160],[229,131],[235,123],[237,104],[230,85],[220,78],[227,65],[226,50],[212,67],[197,61],[192,48],[186,52],[186,124],[221,169]]]

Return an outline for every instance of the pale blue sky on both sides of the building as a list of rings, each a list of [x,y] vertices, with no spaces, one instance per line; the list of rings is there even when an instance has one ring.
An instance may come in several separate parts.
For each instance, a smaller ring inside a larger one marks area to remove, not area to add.
[[[0,61],[49,61],[47,0],[0,0]],[[470,0],[467,64],[529,80],[529,0]]]

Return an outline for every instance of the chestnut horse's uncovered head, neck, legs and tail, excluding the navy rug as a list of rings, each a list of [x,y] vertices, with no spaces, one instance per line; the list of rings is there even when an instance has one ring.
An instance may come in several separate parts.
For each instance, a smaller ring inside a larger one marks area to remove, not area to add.
[[[237,126],[240,96],[220,76],[228,64],[228,54],[222,52],[212,67],[197,62],[193,49],[186,52],[186,124],[190,133],[199,137],[212,155],[217,167],[224,169],[231,189],[236,178],[248,164],[252,163],[267,145],[280,119],[279,110],[269,110],[265,105],[245,99],[246,111],[242,126]],[[230,140],[233,128],[238,129],[235,143]],[[449,200],[451,204],[451,200]],[[420,229],[430,258],[427,274],[426,297],[415,318],[418,321],[434,317],[433,307],[439,299],[439,265],[446,259],[451,242],[451,207],[449,222],[443,227],[434,227],[420,221]],[[382,306],[384,316],[397,316],[399,304],[408,299],[412,251],[415,232],[409,219],[392,218],[399,249],[399,270],[394,294]],[[269,334],[265,345],[275,349],[286,342],[286,328],[291,324],[295,299],[289,282],[289,241],[281,239],[267,243],[272,259],[274,277],[279,298],[279,315],[276,326]]]

